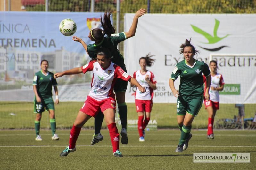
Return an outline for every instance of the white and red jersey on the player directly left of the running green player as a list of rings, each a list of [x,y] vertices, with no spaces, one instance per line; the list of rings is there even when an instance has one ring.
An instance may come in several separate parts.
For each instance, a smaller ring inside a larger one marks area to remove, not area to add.
[[[136,92],[135,92],[135,99],[138,99],[138,100],[151,100],[153,98],[154,90],[153,90],[153,88],[151,88],[149,86],[149,84],[145,80],[146,75],[149,76],[149,80],[153,84],[156,84],[155,76],[154,76],[154,74],[152,72],[147,71],[145,74],[141,74],[140,70],[134,72],[133,73],[133,78],[135,78],[139,82],[139,84],[142,87],[145,87],[145,89],[146,89],[146,92],[142,93],[142,92],[139,91],[139,89],[137,87],[136,88]]]

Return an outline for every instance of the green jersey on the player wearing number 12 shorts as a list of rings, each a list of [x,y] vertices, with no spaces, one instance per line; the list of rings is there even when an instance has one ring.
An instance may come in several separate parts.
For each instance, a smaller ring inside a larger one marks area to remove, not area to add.
[[[39,97],[49,98],[52,97],[52,85],[58,85],[56,79],[53,77],[53,73],[49,72],[45,75],[41,71],[38,71],[33,80],[33,85],[37,87],[37,93]]]

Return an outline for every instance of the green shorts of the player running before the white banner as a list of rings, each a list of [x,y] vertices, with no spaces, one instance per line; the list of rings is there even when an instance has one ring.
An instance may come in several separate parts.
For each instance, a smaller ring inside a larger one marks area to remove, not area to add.
[[[180,95],[177,99],[177,115],[185,116],[186,113],[197,116],[203,103],[202,96]]]

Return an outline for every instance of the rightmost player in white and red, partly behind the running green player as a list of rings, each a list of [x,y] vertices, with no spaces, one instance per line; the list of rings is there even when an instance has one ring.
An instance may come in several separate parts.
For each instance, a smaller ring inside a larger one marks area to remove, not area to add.
[[[221,74],[217,73],[217,62],[212,60],[210,61],[210,70],[211,70],[211,88],[209,91],[210,100],[206,101],[204,99],[205,109],[208,111],[208,131],[207,138],[214,139],[213,135],[213,122],[216,115],[216,111],[219,110],[219,91],[222,91],[224,88],[224,80]],[[203,76],[204,82],[206,84],[206,78]]]

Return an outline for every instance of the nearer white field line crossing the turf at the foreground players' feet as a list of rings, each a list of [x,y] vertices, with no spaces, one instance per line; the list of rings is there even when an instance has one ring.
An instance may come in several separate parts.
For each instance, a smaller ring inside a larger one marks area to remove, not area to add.
[[[92,145],[76,145],[78,147],[112,147],[112,145],[102,145],[102,146],[92,146]],[[0,147],[67,147],[65,146],[51,146],[51,145],[42,145],[42,146],[35,146],[35,145],[26,145],[26,146],[0,146]],[[121,147],[177,147],[177,145],[141,145],[141,146],[121,146]],[[189,147],[225,147],[225,148],[256,148],[256,146],[206,146],[206,145],[189,145]]]

